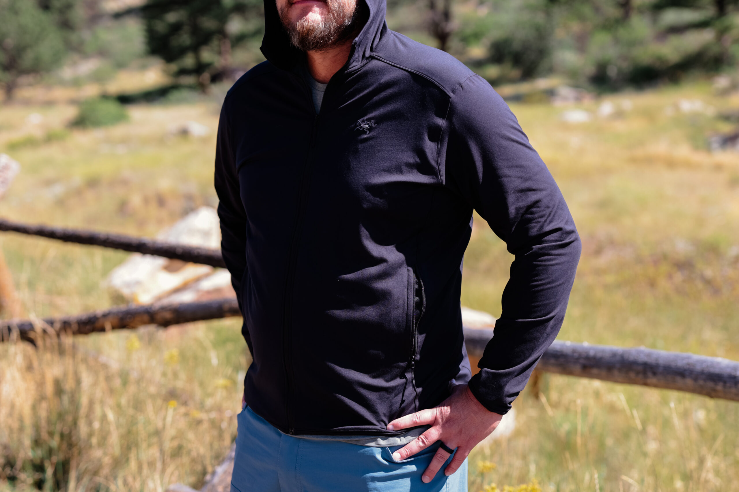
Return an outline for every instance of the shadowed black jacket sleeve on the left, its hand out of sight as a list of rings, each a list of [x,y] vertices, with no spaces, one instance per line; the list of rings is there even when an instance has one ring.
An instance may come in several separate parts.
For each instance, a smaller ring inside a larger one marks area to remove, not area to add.
[[[215,187],[218,195],[218,217],[221,222],[221,252],[228,271],[231,272],[231,285],[236,291],[239,310],[242,306],[242,279],[246,273],[246,211],[239,193],[239,176],[236,173],[236,156],[234,140],[231,138],[231,127],[226,111],[227,102],[223,103],[218,123],[216,143]],[[242,333],[252,352],[251,338],[246,323]]]

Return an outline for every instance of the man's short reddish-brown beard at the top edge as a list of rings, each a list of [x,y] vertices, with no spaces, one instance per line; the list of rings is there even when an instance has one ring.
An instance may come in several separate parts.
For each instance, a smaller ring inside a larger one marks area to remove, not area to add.
[[[302,51],[321,51],[353,35],[358,24],[358,7],[350,12],[341,0],[327,0],[326,4],[329,7],[329,15],[319,24],[310,22],[307,18],[290,24],[287,15],[287,9],[290,6],[285,5],[280,9],[279,17],[282,25],[287,35],[290,36],[290,42],[296,48]]]

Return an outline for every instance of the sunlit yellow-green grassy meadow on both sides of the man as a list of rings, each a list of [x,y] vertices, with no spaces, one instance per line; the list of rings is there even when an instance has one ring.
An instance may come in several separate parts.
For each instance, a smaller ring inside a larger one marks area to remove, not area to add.
[[[157,81],[143,72],[119,78],[111,86]],[[0,151],[22,166],[0,216],[154,235],[217,203],[216,96],[133,105],[129,122],[109,128],[67,128],[71,100],[98,90],[28,89],[21,103],[0,106]],[[739,155],[705,150],[707,134],[729,128],[715,112],[739,108],[739,97],[695,82],[606,99],[632,108],[575,125],[560,119],[567,108],[511,106],[582,235],[559,338],[739,360]],[[715,109],[684,114],[681,99]],[[27,118],[33,113],[41,122]],[[211,134],[174,135],[188,120]],[[10,234],[0,242],[29,315],[112,302],[101,280],[126,254]],[[510,262],[476,218],[463,304],[499,315]],[[247,363],[235,320],[38,351],[3,345],[0,490],[200,486],[234,438]],[[472,492],[533,490],[534,479],[543,491],[739,490],[737,403],[545,375],[542,398],[524,392],[514,406],[516,430],[471,457]]]

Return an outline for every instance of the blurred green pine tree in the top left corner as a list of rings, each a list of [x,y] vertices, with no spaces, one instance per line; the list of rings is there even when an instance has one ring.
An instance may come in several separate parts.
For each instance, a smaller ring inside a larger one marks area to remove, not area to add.
[[[50,14],[31,0],[0,0],[0,82],[13,99],[18,79],[55,69],[66,50]]]

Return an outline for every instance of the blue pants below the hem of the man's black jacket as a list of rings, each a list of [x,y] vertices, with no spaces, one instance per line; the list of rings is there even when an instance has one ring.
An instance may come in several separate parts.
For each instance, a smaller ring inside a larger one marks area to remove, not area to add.
[[[392,448],[308,440],[282,434],[246,407],[239,414],[231,492],[466,492],[467,460],[450,477],[444,468],[420,480],[438,444],[407,460]]]

